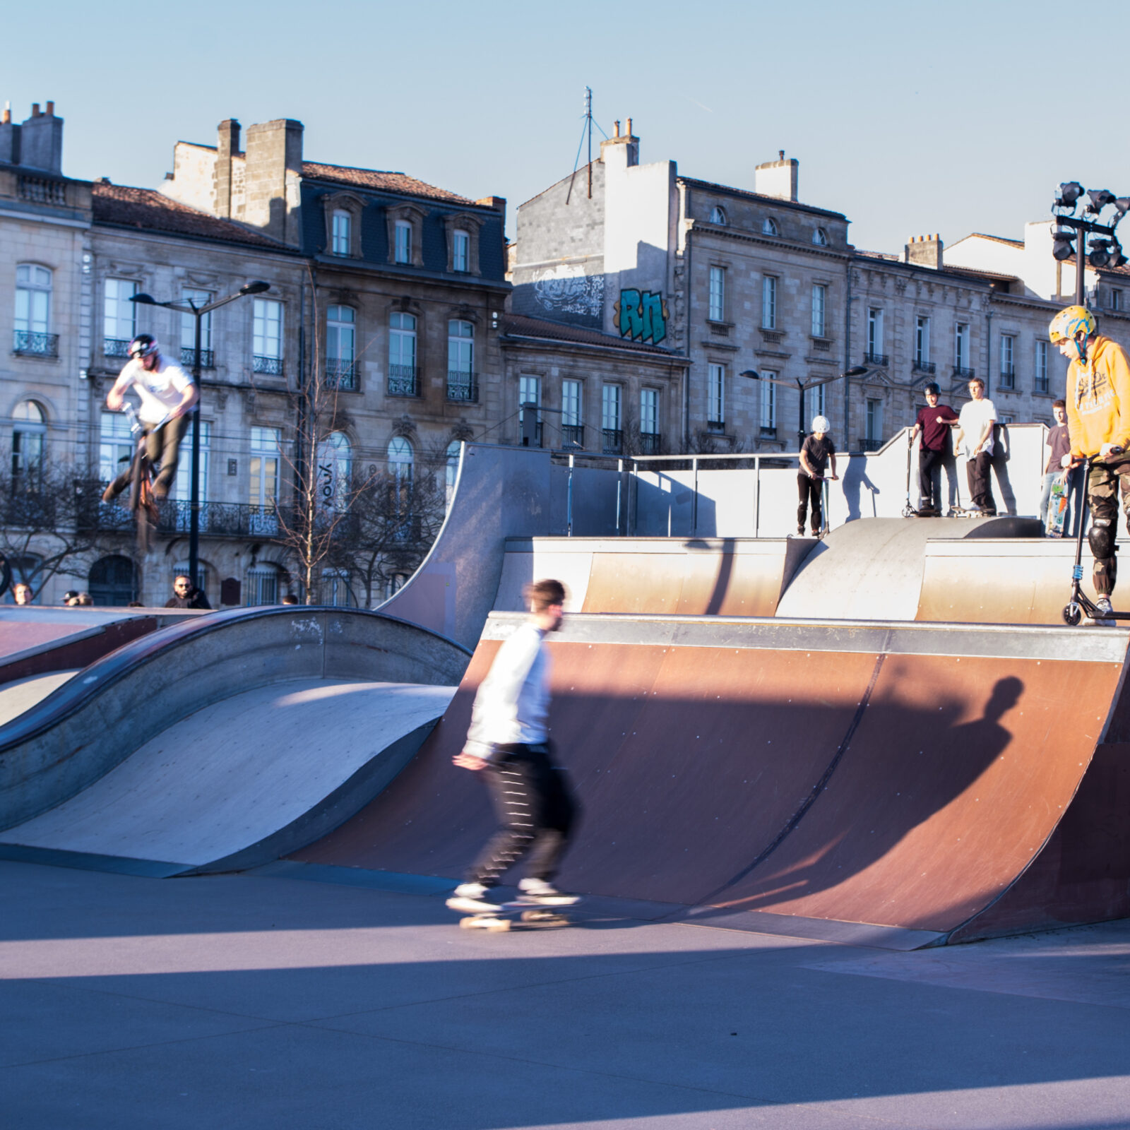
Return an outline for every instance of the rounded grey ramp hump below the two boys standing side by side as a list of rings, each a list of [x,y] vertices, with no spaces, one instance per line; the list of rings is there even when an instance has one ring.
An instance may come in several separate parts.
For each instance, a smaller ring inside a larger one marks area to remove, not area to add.
[[[913,620],[931,539],[1031,538],[1040,532],[1036,519],[1014,516],[866,518],[847,522],[808,555],[781,598],[776,615]]]

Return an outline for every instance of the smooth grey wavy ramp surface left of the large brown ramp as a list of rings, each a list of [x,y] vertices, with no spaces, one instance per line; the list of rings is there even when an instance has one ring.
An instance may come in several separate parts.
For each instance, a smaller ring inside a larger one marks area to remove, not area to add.
[[[0,845],[253,866],[336,827],[412,756],[454,687],[296,679],[207,706]]]

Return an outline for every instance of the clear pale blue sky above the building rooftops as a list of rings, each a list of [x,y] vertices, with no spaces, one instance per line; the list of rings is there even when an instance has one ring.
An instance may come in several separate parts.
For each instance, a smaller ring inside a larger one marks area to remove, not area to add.
[[[845,212],[871,250],[929,232],[1019,236],[1061,180],[1130,194],[1121,6],[12,7],[0,102],[19,121],[54,99],[72,176],[156,186],[177,139],[215,144],[228,116],[297,118],[307,159],[513,209],[572,169],[588,85],[605,130],[634,119],[644,162],[753,188],[754,166],[784,149],[801,199]]]

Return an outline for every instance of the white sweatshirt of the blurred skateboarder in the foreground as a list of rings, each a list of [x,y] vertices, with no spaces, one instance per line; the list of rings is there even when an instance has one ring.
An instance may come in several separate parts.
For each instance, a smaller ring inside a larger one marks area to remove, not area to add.
[[[549,652],[545,633],[523,624],[499,649],[479,685],[464,749],[485,760],[495,746],[537,745],[549,737]]]

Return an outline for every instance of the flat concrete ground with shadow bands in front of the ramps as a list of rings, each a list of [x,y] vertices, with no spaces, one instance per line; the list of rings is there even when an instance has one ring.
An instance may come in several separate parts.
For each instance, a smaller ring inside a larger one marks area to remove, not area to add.
[[[306,873],[0,862],[0,1125],[1130,1128],[1130,922],[486,933],[434,881]]]

